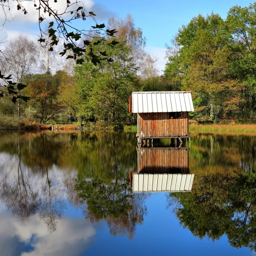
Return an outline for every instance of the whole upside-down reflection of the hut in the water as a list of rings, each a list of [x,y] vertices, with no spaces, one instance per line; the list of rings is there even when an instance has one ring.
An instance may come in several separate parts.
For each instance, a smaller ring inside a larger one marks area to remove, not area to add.
[[[130,173],[133,192],[190,192],[189,148],[138,148],[138,170]]]

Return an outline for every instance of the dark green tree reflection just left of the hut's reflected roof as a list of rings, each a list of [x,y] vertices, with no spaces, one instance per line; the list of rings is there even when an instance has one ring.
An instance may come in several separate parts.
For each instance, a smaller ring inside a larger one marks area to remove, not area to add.
[[[129,179],[106,183],[100,178],[76,180],[79,207],[91,222],[106,220],[110,234],[133,238],[137,224],[146,214],[147,194],[133,194]]]

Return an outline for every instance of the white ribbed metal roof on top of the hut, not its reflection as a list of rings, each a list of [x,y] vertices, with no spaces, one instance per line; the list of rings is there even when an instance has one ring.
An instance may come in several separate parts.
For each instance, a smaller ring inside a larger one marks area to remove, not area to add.
[[[191,92],[133,92],[132,112],[194,111]]]

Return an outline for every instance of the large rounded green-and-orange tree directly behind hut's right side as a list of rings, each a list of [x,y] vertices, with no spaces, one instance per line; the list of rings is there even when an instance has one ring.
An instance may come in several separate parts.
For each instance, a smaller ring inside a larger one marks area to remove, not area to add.
[[[230,78],[233,52],[224,20],[218,14],[194,17],[175,41],[178,53],[169,57],[165,75],[192,90],[199,113],[212,120],[238,116],[244,84]]]

